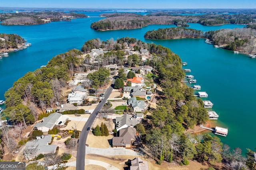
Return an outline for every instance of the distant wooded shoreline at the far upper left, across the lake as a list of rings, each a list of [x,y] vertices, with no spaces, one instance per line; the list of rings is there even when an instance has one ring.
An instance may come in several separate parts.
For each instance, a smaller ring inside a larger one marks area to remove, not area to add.
[[[36,25],[51,21],[71,21],[74,18],[86,18],[85,14],[65,12],[16,12],[0,13],[1,25]]]

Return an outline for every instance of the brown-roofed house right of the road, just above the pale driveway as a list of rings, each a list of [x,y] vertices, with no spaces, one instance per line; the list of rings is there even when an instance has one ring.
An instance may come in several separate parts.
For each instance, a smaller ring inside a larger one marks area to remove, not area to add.
[[[112,138],[113,147],[130,149],[132,145],[140,145],[140,138],[136,135],[136,129],[134,127],[120,129],[119,137]]]

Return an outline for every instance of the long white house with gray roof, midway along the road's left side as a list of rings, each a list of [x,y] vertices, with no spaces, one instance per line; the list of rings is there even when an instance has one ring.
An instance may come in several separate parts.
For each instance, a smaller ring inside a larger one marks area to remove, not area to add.
[[[62,114],[58,112],[51,113],[48,117],[44,117],[42,122],[36,123],[34,125],[34,129],[41,130],[42,132],[48,132],[55,124],[58,124],[61,115]]]

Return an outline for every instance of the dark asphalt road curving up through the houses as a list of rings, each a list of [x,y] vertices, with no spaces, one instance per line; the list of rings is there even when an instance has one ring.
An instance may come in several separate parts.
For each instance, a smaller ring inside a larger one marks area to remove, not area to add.
[[[94,111],[92,112],[92,114],[88,118],[88,121],[86,121],[86,123],[82,129],[82,132],[81,132],[80,138],[79,138],[79,142],[78,142],[77,154],[76,154],[76,170],[84,170],[85,143],[86,143],[87,135],[89,133],[89,131],[87,131],[86,129],[87,129],[87,127],[92,127],[92,123],[93,123],[94,119],[96,118],[97,114],[99,113],[99,111],[102,108],[102,106],[104,105],[104,103],[106,103],[106,101],[108,100],[108,97],[110,96],[110,93],[113,90],[114,82],[115,82],[115,79],[113,79],[111,86],[108,88],[108,90],[106,90],[106,92],[104,94],[104,97],[105,97],[104,100],[102,100],[98,104],[98,106],[94,109]]]

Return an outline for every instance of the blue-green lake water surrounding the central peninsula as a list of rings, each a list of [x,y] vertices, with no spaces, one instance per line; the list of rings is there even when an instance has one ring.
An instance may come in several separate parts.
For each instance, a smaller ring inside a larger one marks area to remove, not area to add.
[[[98,16],[96,13],[87,13]],[[146,31],[158,28],[175,27],[175,25],[149,25],[140,29],[95,31],[90,24],[102,18],[83,18],[71,22],[59,21],[43,25],[0,25],[0,33],[16,33],[32,43],[27,49],[9,53],[9,57],[0,60],[0,100],[4,92],[12,87],[18,78],[29,71],[34,71],[54,56],[70,49],[81,49],[85,41],[94,38],[134,37],[147,43],[156,43],[170,48],[182,61],[188,63],[184,68],[192,70],[201,91],[208,93],[207,100],[214,103],[213,110],[220,114],[217,125],[228,127],[227,137],[222,142],[233,149],[240,147],[255,148],[254,96],[256,90],[256,59],[246,55],[234,54],[213,45],[204,43],[204,39],[149,40],[144,39]],[[190,28],[202,31],[244,27],[245,25],[227,24],[221,26],[203,26],[189,23]],[[190,84],[189,84],[190,86]],[[234,142],[236,141],[236,142]]]

